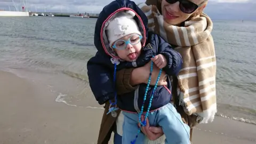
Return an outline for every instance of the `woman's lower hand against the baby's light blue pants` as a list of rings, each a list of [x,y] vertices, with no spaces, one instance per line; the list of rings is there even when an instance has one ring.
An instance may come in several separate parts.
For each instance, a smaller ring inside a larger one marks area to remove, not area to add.
[[[141,116],[141,122],[145,120],[145,117],[142,115]],[[159,137],[161,137],[164,132],[162,127],[154,127],[154,126],[149,126],[148,118],[146,119],[147,125],[141,127],[141,131],[147,135],[149,140],[156,140]],[[138,123],[138,126],[140,126],[140,123]]]

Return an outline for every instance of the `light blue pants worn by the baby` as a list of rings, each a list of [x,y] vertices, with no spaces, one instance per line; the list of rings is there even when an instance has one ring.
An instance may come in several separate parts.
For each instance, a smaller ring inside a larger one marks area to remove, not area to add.
[[[131,144],[138,133],[138,114],[123,111],[123,138],[122,144]],[[189,144],[190,128],[182,122],[180,114],[171,103],[148,114],[150,126],[161,126],[166,136],[166,144]],[[141,144],[145,135],[140,132],[135,143]]]

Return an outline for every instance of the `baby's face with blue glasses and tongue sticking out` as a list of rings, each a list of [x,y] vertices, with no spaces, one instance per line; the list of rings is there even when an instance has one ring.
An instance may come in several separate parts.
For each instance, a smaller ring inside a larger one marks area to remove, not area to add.
[[[130,34],[113,43],[119,58],[125,61],[135,61],[141,53],[141,38],[138,34]]]

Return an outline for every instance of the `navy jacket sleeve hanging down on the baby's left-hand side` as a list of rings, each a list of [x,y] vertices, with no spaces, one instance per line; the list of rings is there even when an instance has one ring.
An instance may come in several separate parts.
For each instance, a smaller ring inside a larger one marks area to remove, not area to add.
[[[95,99],[103,105],[110,99],[114,99],[115,90],[113,71],[104,63],[103,55],[98,52],[87,62],[87,75],[89,84]]]

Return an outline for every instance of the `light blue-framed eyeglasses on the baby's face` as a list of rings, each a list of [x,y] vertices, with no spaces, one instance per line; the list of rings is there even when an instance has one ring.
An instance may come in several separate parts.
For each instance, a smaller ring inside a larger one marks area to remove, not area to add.
[[[131,44],[131,45],[138,44],[141,39],[142,39],[141,35],[134,34],[127,41],[123,39],[117,40],[112,47],[113,49],[124,50],[128,44]]]

